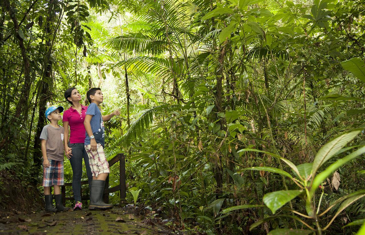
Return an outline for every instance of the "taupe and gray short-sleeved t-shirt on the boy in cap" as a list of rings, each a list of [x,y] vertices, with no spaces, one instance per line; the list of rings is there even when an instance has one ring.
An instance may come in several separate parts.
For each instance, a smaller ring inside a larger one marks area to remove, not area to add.
[[[47,157],[52,160],[64,160],[64,128],[54,128],[50,124],[43,127],[39,139],[47,140]]]

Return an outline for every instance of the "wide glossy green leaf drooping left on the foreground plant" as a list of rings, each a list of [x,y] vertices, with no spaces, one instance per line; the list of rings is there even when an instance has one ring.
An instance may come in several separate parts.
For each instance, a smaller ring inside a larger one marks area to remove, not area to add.
[[[262,201],[273,212],[273,214],[283,205],[287,204],[293,198],[298,196],[302,191],[299,190],[280,190],[272,193],[266,193]]]

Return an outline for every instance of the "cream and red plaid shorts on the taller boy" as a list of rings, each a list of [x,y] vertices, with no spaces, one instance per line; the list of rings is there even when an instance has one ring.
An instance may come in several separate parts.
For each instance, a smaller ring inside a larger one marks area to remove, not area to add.
[[[90,150],[90,144],[85,145],[85,150],[89,156],[91,173],[95,177],[97,177],[101,173],[110,173],[109,163],[107,161],[107,158],[105,158],[103,146],[99,143],[97,143],[96,146],[96,151],[92,152]]]

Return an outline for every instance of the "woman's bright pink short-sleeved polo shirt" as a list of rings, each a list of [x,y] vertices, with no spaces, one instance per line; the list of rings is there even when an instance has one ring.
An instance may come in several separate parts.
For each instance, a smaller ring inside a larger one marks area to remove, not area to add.
[[[87,106],[81,105],[81,114],[70,107],[68,110],[64,111],[64,116],[62,118],[63,122],[69,122],[70,126],[70,144],[74,143],[84,143],[85,141],[85,114]]]

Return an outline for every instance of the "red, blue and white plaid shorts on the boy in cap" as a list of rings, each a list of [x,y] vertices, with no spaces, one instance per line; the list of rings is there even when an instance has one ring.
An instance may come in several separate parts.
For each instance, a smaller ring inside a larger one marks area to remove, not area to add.
[[[43,186],[64,185],[64,161],[49,160],[49,167],[43,167]]]

